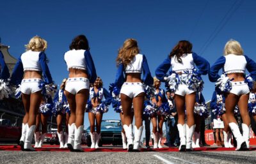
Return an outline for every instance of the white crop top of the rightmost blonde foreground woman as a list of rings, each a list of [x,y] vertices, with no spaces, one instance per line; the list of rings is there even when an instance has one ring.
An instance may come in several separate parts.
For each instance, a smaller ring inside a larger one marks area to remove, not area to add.
[[[236,56],[228,54],[225,56],[226,61],[224,65],[225,73],[245,73],[246,59],[244,56]]]

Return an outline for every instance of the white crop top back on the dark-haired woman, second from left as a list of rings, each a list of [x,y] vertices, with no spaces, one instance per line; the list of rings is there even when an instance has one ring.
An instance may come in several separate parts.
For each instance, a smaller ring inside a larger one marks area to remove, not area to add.
[[[65,53],[64,59],[69,68],[76,68],[80,70],[86,70],[86,61],[84,59],[85,50],[68,50]]]

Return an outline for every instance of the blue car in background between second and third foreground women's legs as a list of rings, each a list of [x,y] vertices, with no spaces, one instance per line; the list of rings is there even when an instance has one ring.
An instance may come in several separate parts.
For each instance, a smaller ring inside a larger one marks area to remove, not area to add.
[[[96,131],[96,129],[95,129]],[[101,123],[101,138],[99,141],[99,146],[102,144],[112,144],[112,145],[122,145],[122,123],[120,120],[102,120]],[[92,145],[90,137],[90,126],[86,129],[87,145],[90,147]]]

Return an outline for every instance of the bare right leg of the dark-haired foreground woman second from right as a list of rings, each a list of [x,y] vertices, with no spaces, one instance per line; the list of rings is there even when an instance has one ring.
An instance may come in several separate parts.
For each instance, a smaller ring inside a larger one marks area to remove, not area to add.
[[[195,108],[195,101],[196,101],[196,94],[186,94],[185,95],[185,101],[186,101],[186,111],[187,111],[187,124],[190,128],[195,124],[194,119],[194,108]]]

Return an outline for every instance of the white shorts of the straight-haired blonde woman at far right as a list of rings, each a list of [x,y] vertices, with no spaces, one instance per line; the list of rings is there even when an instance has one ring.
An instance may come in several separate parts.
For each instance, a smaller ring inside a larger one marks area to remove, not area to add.
[[[250,93],[250,89],[248,87],[248,84],[246,82],[231,82],[232,89],[229,91],[230,93],[236,94],[237,96],[240,96],[242,94],[248,94]]]

